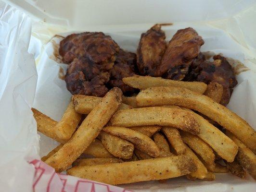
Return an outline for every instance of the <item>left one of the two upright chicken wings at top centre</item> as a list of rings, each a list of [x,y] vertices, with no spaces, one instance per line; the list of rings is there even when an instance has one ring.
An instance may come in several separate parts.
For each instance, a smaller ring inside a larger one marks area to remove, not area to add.
[[[137,49],[137,65],[142,75],[155,76],[156,68],[161,64],[166,50],[165,32],[161,25],[155,24],[146,33],[141,34]]]

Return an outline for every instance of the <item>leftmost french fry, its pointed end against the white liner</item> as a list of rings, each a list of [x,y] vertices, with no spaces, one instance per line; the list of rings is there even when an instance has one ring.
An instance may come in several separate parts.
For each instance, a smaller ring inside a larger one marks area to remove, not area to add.
[[[35,108],[31,109],[34,113],[34,118],[37,121],[38,132],[43,133],[44,135],[51,137],[60,143],[65,143],[65,141],[58,137],[54,129],[55,125],[58,123],[55,120],[52,120],[50,117],[41,113]]]

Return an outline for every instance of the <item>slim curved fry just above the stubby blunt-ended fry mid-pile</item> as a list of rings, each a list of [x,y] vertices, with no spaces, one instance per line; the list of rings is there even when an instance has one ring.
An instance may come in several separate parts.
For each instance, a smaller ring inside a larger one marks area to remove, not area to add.
[[[158,157],[160,155],[160,151],[154,141],[141,132],[116,126],[104,127],[103,131],[130,141],[132,144],[134,144],[134,147],[140,149],[150,156]]]

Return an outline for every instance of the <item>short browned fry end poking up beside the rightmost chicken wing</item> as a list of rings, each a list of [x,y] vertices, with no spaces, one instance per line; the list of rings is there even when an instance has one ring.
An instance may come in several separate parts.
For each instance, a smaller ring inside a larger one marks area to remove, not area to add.
[[[204,95],[210,97],[216,103],[219,103],[222,97],[222,93],[223,93],[222,84],[210,83],[207,85],[207,89]]]

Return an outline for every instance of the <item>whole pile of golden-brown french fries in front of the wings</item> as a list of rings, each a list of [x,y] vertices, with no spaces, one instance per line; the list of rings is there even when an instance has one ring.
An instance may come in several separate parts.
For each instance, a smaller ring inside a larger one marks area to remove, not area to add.
[[[45,163],[114,185],[215,180],[224,172],[244,178],[245,170],[256,179],[255,130],[218,104],[220,84],[138,75],[123,81],[140,93],[125,97],[115,87],[103,98],[74,95],[59,122],[32,109],[38,131],[60,143]]]

